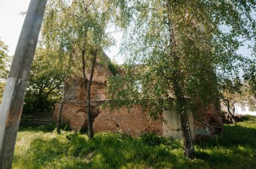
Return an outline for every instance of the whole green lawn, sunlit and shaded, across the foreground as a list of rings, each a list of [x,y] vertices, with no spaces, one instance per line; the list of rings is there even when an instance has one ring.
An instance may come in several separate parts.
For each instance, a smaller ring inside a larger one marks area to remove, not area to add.
[[[50,127],[51,128],[51,127]],[[49,128],[22,128],[13,168],[255,168],[256,123],[224,125],[223,135],[195,143],[195,159],[183,157],[182,142],[148,134],[86,135]]]

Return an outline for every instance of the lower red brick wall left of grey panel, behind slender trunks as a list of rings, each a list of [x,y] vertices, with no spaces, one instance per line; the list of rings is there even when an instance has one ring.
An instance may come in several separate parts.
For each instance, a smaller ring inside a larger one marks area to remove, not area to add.
[[[55,107],[54,120],[57,120],[59,105]],[[112,113],[110,109],[98,109],[93,107],[93,129],[101,131],[123,131],[129,135],[137,136],[143,133],[156,133],[162,135],[162,119],[152,120],[148,118],[148,112],[143,111],[141,106],[133,106],[131,109],[121,108]],[[65,103],[63,105],[62,119],[69,123],[71,129],[80,131],[87,127],[86,107],[81,103]]]

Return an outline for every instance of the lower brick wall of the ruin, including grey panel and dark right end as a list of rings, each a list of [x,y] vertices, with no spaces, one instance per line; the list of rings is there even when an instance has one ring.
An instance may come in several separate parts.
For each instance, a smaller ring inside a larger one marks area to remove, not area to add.
[[[171,135],[177,139],[182,138],[179,115],[176,118],[177,123],[172,123],[173,119],[165,121],[165,119],[162,120],[162,116],[157,120],[150,119],[148,112],[139,105],[133,105],[129,109],[122,107],[111,112],[109,108],[100,108],[99,105],[102,103],[104,101],[92,101],[92,121],[95,132],[123,131],[133,136],[150,132],[158,135]],[[56,105],[55,120],[58,109],[59,105]],[[164,111],[164,117],[166,117],[166,113],[175,114],[175,112]],[[220,113],[213,105],[199,109],[197,113],[198,115],[189,121],[194,139],[209,137],[222,131]],[[67,101],[63,106],[62,117],[74,131],[80,131],[83,127],[86,128],[86,101]]]

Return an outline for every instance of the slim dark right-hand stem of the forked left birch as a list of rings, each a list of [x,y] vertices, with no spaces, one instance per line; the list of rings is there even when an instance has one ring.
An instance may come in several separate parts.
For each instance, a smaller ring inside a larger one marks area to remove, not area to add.
[[[94,131],[92,129],[92,109],[91,109],[91,86],[92,86],[92,77],[94,76],[94,68],[96,63],[97,50],[94,54],[92,60],[92,69],[90,74],[90,79],[87,86],[87,97],[86,97],[86,108],[87,108],[87,123],[88,123],[88,136],[89,139],[94,137]]]

